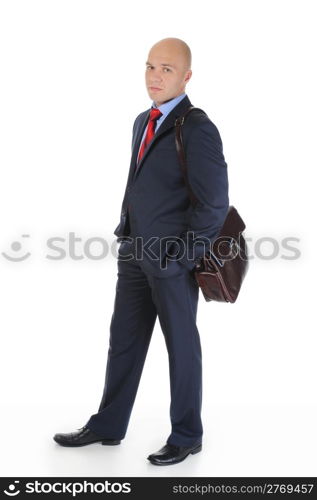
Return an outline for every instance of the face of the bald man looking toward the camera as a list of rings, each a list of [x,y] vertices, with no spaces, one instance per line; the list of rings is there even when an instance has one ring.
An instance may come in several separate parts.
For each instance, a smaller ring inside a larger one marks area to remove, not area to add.
[[[158,45],[150,50],[145,83],[150,98],[157,106],[182,94],[191,74],[179,49]]]

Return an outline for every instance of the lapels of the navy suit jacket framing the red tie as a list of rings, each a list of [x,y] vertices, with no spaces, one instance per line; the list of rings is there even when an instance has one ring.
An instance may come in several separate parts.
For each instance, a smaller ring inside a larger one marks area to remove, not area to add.
[[[130,165],[130,174],[129,174],[129,179],[132,178],[132,182],[135,182],[135,180],[137,179],[137,177],[138,177],[138,175],[139,175],[139,173],[141,171],[143,162],[146,159],[147,155],[149,154],[149,151],[153,147],[153,144],[155,144],[155,142],[158,140],[158,138],[162,134],[164,134],[164,132],[166,132],[168,129],[170,129],[170,128],[172,128],[172,127],[175,126],[175,120],[176,120],[176,118],[178,118],[180,115],[182,115],[183,113],[185,113],[186,109],[189,106],[191,106],[191,105],[192,104],[191,104],[188,96],[186,95],[184,97],[184,99],[182,99],[175,106],[175,108],[173,108],[172,111],[170,111],[170,113],[167,115],[167,117],[163,121],[162,125],[160,125],[160,127],[157,130],[157,132],[153,136],[152,141],[148,144],[148,146],[147,146],[146,150],[144,151],[144,154],[143,154],[143,156],[141,158],[141,161],[140,161],[140,163],[138,165],[138,168],[136,168],[136,160],[137,160],[137,155],[138,155],[138,152],[139,152],[140,142],[141,142],[142,135],[143,135],[144,129],[145,129],[146,125],[147,125],[149,114],[150,114],[150,109],[147,110],[146,114],[142,118],[142,121],[141,121],[141,123],[139,125],[138,131],[136,132],[136,140],[135,140],[134,145],[133,145],[133,153],[132,153],[132,159],[131,159],[131,165]]]

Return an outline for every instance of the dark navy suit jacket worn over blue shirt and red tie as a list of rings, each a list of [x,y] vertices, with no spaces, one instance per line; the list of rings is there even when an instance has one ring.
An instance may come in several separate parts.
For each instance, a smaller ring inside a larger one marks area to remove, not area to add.
[[[175,145],[175,120],[191,106],[186,95],[167,115],[136,169],[140,141],[150,109],[135,119],[132,156],[122,202],[117,241],[133,238],[140,265],[157,277],[193,269],[212,245],[229,208],[227,163],[217,127],[201,111],[182,126],[188,180],[198,203],[190,203]],[[139,237],[139,238],[136,238]],[[135,240],[136,238],[136,240]],[[200,241],[199,241],[200,240]]]

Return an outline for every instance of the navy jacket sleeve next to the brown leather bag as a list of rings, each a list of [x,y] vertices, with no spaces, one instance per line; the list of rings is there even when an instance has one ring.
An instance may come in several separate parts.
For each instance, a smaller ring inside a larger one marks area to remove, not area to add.
[[[217,127],[209,118],[193,127],[185,143],[188,181],[197,198],[188,210],[185,234],[186,255],[181,262],[193,269],[225,221],[228,208],[228,173]]]

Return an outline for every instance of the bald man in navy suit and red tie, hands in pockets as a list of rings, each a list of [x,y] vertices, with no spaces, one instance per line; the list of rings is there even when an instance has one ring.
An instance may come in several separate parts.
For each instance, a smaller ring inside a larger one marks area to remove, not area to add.
[[[206,238],[209,244],[216,239],[229,203],[222,141],[201,110],[192,111],[182,126],[195,206],[184,183],[174,125],[191,105],[185,94],[191,76],[185,42],[166,38],[151,48],[145,81],[152,108],[134,122],[130,170],[114,232],[121,245],[104,392],[98,412],[79,432],[54,436],[61,445],[120,444],[158,316],[169,356],[171,433],[148,459],[170,465],[202,449],[199,288],[193,272],[206,252]]]

